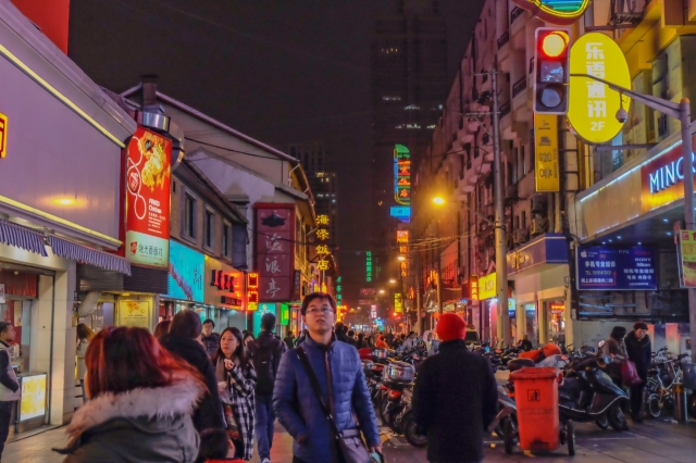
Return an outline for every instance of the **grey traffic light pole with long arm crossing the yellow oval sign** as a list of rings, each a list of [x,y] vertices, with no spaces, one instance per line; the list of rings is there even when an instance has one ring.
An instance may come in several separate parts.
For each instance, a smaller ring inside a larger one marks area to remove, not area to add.
[[[694,220],[694,160],[693,160],[693,147],[692,147],[692,113],[691,102],[687,98],[683,98],[682,101],[675,103],[670,100],[663,100],[661,98],[652,97],[650,95],[643,95],[633,91],[629,88],[621,87],[620,85],[612,84],[599,77],[595,77],[589,74],[571,74],[571,77],[585,77],[596,82],[605,84],[607,87],[616,90],[622,95],[627,95],[639,103],[645,104],[656,111],[667,114],[670,117],[680,120],[682,125],[682,163],[684,165],[684,226],[687,230],[696,229]],[[691,173],[688,175],[687,173]],[[694,288],[686,288],[688,295],[688,321],[689,321],[689,334],[692,342],[696,339],[696,290]]]

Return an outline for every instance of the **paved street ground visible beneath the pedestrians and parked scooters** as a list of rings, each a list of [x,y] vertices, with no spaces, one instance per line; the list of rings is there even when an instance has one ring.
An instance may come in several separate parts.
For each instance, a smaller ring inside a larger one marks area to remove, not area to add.
[[[415,449],[402,437],[394,437],[382,430],[385,456],[389,463],[425,463],[425,449]],[[486,441],[486,462],[524,462],[537,458],[544,462],[577,463],[691,463],[696,461],[696,423],[680,425],[671,420],[631,424],[631,431],[600,430],[594,424],[581,424],[577,430],[574,458],[569,458],[567,448],[547,454],[523,453],[517,449],[506,455],[502,442],[496,438]],[[65,445],[65,428],[58,428],[28,437],[5,446],[2,463],[59,463],[62,456],[51,451]],[[289,463],[293,458],[293,439],[276,424],[271,460]],[[256,452],[254,452],[256,453]],[[258,455],[251,460],[258,463]]]

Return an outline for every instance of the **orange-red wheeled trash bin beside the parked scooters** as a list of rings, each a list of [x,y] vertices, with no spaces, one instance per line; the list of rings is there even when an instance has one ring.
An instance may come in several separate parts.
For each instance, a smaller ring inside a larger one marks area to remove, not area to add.
[[[522,450],[558,449],[558,370],[525,367],[510,374]]]

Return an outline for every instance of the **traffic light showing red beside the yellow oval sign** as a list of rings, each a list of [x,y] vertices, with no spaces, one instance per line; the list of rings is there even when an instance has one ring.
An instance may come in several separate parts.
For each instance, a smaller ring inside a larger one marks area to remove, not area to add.
[[[534,112],[566,114],[570,79],[570,32],[539,27],[535,33]]]

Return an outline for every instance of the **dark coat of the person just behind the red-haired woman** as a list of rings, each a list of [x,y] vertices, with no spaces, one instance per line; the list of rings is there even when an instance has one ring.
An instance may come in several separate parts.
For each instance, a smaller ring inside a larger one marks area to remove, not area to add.
[[[186,361],[198,370],[203,377],[208,393],[203,396],[198,409],[194,413],[194,426],[199,433],[211,427],[225,427],[215,368],[208,356],[206,349],[196,339],[177,335],[164,335],[160,338],[160,345],[174,355]]]

